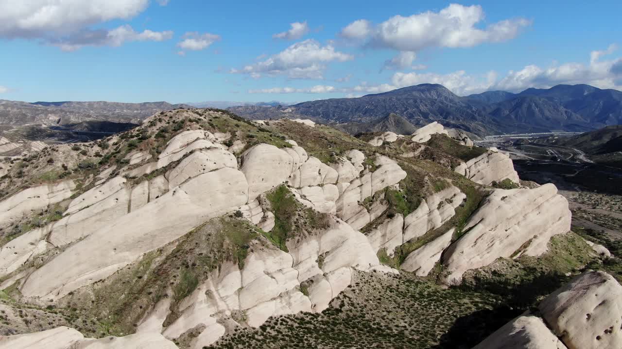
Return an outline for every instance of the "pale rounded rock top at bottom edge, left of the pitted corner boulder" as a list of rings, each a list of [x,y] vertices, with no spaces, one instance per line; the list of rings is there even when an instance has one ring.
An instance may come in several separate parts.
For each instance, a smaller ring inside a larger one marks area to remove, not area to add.
[[[521,316],[496,330],[473,349],[567,349],[542,319]]]

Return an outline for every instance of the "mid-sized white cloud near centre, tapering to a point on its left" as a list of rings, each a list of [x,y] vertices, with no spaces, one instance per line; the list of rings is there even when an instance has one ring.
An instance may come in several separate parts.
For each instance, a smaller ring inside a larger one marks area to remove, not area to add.
[[[231,69],[230,73],[242,73],[256,77],[266,74],[285,75],[292,79],[322,79],[326,63],[353,59],[352,55],[338,52],[332,45],[322,46],[315,40],[307,39],[294,43],[266,60],[241,69]]]

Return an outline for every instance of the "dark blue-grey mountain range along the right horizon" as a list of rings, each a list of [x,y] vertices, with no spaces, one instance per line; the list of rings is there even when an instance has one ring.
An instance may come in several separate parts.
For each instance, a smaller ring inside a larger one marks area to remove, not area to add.
[[[461,97],[440,84],[419,84],[356,98],[229,109],[249,119],[304,117],[327,124],[374,124],[396,113],[413,125],[439,121],[478,135],[585,132],[622,122],[622,92],[578,84],[529,88],[521,93],[487,91]]]

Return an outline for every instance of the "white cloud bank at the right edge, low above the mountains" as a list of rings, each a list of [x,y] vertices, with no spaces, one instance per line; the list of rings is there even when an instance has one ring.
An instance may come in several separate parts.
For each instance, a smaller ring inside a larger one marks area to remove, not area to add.
[[[606,50],[590,53],[590,63],[555,64],[549,68],[537,65],[528,65],[518,71],[509,71],[494,87],[507,91],[522,91],[523,89],[550,88],[557,84],[590,84],[598,88],[622,89],[622,58],[601,60],[605,55],[611,55],[616,50],[610,45]]]

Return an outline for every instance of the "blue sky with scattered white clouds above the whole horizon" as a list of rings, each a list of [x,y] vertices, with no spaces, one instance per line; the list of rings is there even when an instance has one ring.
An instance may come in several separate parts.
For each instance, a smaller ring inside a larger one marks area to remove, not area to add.
[[[292,102],[418,83],[461,95],[621,89],[621,13],[621,1],[0,0],[0,99]]]

